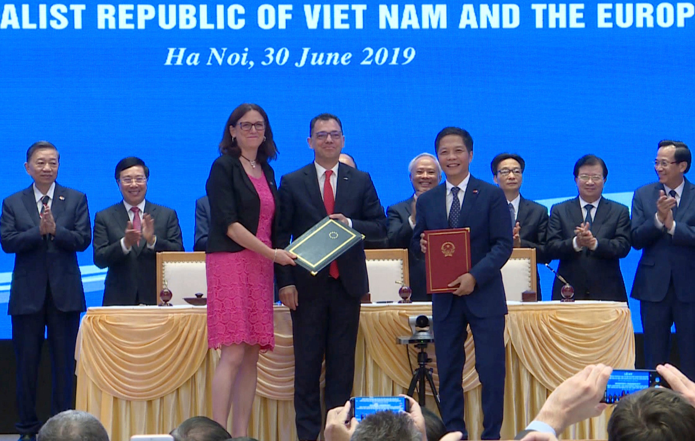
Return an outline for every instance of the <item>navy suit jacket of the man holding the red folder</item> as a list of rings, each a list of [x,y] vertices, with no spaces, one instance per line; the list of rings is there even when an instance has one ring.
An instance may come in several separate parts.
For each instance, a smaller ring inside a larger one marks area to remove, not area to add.
[[[418,197],[416,225],[411,251],[420,252],[420,233],[449,228],[446,215],[446,183],[437,185]],[[471,275],[475,289],[466,296],[466,304],[476,317],[507,313],[505,287],[500,269],[512,255],[512,224],[505,193],[473,176],[468,181],[461,206],[461,227],[471,228]],[[433,307],[449,310],[454,294],[434,294]]]

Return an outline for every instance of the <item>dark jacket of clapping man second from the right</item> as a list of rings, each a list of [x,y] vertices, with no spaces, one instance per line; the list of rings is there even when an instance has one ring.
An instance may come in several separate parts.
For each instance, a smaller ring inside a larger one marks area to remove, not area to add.
[[[622,203],[602,197],[591,233],[598,240],[596,251],[574,251],[574,228],[584,222],[579,198],[558,203],[550,209],[547,257],[559,259],[557,272],[574,288],[577,300],[628,301],[620,259],[630,252],[630,214]],[[553,300],[562,298],[563,283],[555,278]]]

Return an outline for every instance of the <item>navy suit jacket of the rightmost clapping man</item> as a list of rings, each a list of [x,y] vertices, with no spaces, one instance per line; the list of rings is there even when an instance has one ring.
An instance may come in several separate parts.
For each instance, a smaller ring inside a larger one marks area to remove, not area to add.
[[[676,210],[673,237],[656,227],[656,201],[664,186],[651,183],[640,187],[632,198],[632,247],[642,250],[637,265],[632,297],[662,301],[673,278],[676,297],[695,301],[695,185],[685,179]]]

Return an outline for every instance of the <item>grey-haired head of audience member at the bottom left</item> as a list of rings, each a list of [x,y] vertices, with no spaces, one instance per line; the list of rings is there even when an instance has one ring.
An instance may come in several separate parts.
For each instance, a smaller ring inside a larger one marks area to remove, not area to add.
[[[38,441],[108,441],[98,419],[82,410],[64,410],[49,418],[38,433]]]

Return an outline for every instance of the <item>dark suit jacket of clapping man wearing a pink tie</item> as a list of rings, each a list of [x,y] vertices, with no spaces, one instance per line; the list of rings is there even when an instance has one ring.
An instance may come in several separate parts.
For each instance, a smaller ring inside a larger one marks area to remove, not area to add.
[[[181,227],[174,210],[145,201],[145,213],[154,219],[157,241],[147,248],[145,239],[127,254],[121,248],[129,217],[123,201],[99,211],[94,218],[94,264],[108,267],[104,281],[104,306],[134,305],[138,297],[146,304],[156,303],[157,251],[183,251]],[[139,295],[138,295],[139,294]]]

